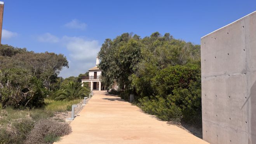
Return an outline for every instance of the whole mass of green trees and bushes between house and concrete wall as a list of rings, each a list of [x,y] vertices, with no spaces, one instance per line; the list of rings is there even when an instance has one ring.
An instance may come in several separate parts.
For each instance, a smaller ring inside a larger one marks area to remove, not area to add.
[[[201,121],[200,45],[155,32],[106,39],[98,54],[102,81],[116,81],[138,105],[162,120]]]

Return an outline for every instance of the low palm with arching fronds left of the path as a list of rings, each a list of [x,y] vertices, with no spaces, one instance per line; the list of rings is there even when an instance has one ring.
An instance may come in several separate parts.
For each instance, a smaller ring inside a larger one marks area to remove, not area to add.
[[[89,87],[82,87],[81,83],[70,81],[67,84],[61,86],[61,89],[56,92],[55,100],[73,100],[82,98],[89,95]]]

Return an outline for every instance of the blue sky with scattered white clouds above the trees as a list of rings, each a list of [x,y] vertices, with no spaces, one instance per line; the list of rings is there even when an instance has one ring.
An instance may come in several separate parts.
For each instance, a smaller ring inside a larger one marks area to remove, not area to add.
[[[106,38],[158,31],[200,44],[200,38],[256,10],[255,0],[2,0],[2,44],[62,53],[59,76],[93,67]]]

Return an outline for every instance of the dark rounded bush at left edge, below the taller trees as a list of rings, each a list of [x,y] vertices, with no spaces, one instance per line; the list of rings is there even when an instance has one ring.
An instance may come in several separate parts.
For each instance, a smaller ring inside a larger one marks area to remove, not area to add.
[[[5,69],[0,73],[0,103],[2,107],[42,107],[47,90],[42,82],[24,69]]]

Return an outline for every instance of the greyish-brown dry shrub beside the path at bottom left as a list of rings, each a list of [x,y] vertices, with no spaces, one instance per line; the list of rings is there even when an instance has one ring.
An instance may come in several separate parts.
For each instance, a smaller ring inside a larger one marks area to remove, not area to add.
[[[70,134],[71,127],[68,123],[54,120],[40,120],[28,135],[28,143],[45,143],[56,141],[57,137]]]

